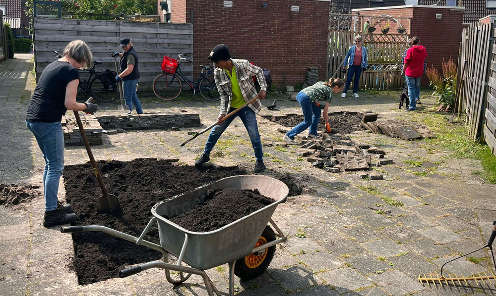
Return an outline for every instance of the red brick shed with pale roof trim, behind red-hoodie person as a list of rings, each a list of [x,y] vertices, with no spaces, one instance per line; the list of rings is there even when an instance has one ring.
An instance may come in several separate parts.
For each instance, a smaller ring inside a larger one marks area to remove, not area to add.
[[[361,15],[378,16],[387,14],[392,17],[411,17],[411,28],[406,21],[403,21],[402,25],[407,29],[406,32],[410,33],[411,37],[418,36],[420,43],[426,47],[428,68],[434,67],[442,73],[443,59],[448,60],[451,57],[458,63],[461,33],[464,28],[463,7],[405,5],[389,9],[368,8],[353,10],[355,13],[357,11],[360,11]],[[441,18],[436,18],[436,14],[441,14]],[[391,24],[390,30],[396,30],[395,25]],[[429,83],[429,78],[425,75],[422,78],[422,85],[427,87]]]

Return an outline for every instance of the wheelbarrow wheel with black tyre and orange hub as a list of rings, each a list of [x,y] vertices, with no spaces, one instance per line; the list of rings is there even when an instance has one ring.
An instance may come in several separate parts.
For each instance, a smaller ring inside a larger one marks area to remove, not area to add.
[[[256,242],[255,247],[270,243],[275,241],[275,239],[276,235],[274,234],[272,228],[265,226],[265,229]],[[275,250],[276,246],[272,246],[261,250],[258,253],[249,254],[244,258],[238,259],[234,267],[234,274],[243,281],[248,281],[260,276],[265,269],[269,267],[269,264],[274,257]]]

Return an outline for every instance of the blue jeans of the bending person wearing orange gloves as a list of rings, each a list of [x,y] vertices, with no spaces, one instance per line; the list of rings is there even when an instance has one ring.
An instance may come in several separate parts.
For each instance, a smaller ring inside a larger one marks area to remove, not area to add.
[[[322,112],[317,104],[314,104],[309,96],[305,93],[299,92],[296,96],[296,100],[300,103],[303,110],[303,117],[305,121],[295,126],[286,135],[291,139],[295,140],[295,136],[310,127],[309,133],[312,135],[317,135],[318,121],[320,120],[320,113]]]

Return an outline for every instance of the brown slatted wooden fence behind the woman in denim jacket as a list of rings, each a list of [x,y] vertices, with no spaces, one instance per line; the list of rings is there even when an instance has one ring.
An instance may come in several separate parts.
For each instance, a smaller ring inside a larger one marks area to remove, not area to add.
[[[363,34],[359,31],[331,30],[329,34],[329,62],[327,79],[346,79],[346,74],[338,69],[350,46],[355,44],[355,36],[364,37],[367,49],[368,68],[362,74],[361,90],[395,90],[403,87],[401,58],[407,46],[407,34]]]

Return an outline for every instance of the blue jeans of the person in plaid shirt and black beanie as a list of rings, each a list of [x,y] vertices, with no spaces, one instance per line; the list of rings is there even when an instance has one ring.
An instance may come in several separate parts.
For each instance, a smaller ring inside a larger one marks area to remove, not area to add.
[[[235,109],[236,108],[230,108],[228,113],[234,111]],[[243,124],[248,131],[249,139],[251,140],[251,146],[253,146],[253,150],[255,151],[256,160],[263,161],[262,141],[260,140],[260,134],[258,133],[256,114],[248,106],[239,110],[236,114],[224,120],[221,124],[214,126],[214,128],[210,132],[210,135],[208,135],[207,144],[205,144],[203,154],[210,155],[210,151],[212,151],[222,133],[227,129],[227,127],[231,124],[231,122],[233,122],[236,117],[240,117],[241,121],[243,121]]]

